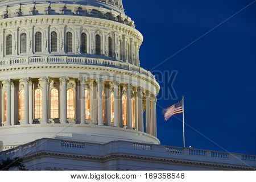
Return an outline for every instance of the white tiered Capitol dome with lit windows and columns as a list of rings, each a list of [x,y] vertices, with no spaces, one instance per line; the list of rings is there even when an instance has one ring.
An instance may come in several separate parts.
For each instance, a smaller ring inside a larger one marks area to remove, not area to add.
[[[142,42],[122,0],[0,0],[0,151],[40,138],[159,144]]]

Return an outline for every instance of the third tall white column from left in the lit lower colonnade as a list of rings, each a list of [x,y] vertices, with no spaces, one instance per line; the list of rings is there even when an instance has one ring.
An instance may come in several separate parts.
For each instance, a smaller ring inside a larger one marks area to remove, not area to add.
[[[43,88],[43,121],[42,124],[48,123],[48,77],[42,78]]]

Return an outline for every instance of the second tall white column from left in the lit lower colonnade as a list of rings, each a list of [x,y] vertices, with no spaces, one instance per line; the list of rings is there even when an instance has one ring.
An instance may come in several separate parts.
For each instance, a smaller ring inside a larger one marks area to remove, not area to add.
[[[24,124],[28,125],[30,123],[29,89],[28,89],[28,84],[30,83],[30,79],[23,78],[23,80],[24,80]]]

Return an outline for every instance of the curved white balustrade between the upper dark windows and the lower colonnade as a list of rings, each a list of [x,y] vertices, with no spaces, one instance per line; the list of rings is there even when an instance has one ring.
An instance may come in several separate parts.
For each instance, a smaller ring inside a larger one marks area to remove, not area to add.
[[[0,70],[15,65],[35,65],[35,64],[83,64],[99,65],[103,67],[114,67],[125,69],[127,71],[138,72],[155,80],[151,72],[141,67],[114,60],[97,59],[90,57],[68,57],[68,56],[38,56],[38,57],[20,57],[0,60]]]

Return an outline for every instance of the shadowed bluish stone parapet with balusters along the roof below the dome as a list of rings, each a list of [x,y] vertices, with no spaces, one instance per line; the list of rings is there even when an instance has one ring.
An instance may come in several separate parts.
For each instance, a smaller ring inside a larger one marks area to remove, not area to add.
[[[194,148],[182,148],[161,146],[156,144],[134,143],[134,142],[110,142],[107,144],[76,142],[61,139],[39,139],[35,142],[24,144],[16,148],[0,152],[0,160],[14,158],[16,156],[29,155],[31,152],[40,151],[57,152],[58,154],[67,155],[69,152],[72,156],[93,155],[108,156],[118,151],[119,155],[133,156],[154,156],[161,159],[175,160],[193,160],[196,162],[209,162],[219,164],[230,164],[236,166],[256,168],[256,156],[232,154],[228,152],[217,152],[209,150],[198,150]]]

